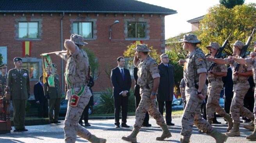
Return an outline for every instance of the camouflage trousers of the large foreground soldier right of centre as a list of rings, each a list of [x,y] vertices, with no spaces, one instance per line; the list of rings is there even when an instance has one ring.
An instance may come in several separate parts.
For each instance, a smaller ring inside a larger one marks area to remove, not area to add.
[[[205,85],[202,90],[203,94],[207,94],[207,86]],[[194,125],[203,131],[203,133],[210,133],[213,131],[213,127],[201,117],[200,107],[203,100],[197,96],[197,89],[195,87],[186,89],[187,105],[183,112],[181,119],[181,135],[183,139],[189,140]]]

